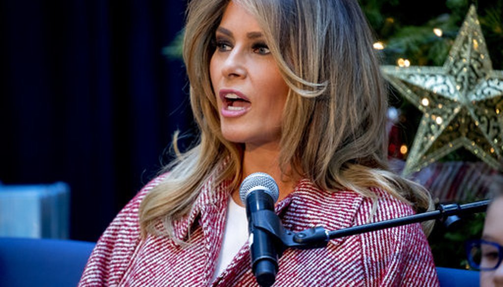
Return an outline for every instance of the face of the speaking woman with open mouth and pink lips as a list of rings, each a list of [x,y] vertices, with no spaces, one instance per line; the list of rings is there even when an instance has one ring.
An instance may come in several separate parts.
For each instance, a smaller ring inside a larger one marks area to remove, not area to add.
[[[253,149],[281,136],[288,86],[253,16],[232,1],[215,33],[210,76],[223,136]]]

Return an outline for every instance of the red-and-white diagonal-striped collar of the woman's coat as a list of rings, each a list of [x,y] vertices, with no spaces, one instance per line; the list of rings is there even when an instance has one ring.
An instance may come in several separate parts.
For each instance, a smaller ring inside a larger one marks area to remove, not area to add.
[[[201,188],[193,208],[183,218],[174,222],[174,235],[179,240],[187,240],[190,230],[206,210],[223,211],[227,208],[230,195],[230,181],[215,185],[210,178]],[[275,205],[284,226],[298,232],[323,226],[328,231],[351,227],[355,224],[355,214],[363,197],[354,191],[325,191],[317,188],[308,179],[300,180],[293,192]],[[207,208],[212,207],[212,208]],[[332,240],[340,242],[343,239]]]

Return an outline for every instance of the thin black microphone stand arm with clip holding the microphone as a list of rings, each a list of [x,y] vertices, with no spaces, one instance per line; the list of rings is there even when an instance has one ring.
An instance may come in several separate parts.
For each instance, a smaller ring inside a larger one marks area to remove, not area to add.
[[[466,204],[441,204],[436,210],[414,214],[371,224],[364,224],[335,231],[327,231],[323,227],[314,227],[300,232],[286,230],[277,214],[271,210],[261,210],[252,217],[255,228],[268,232],[275,238],[274,245],[281,256],[287,248],[313,249],[323,248],[331,239],[382,230],[429,220],[452,221],[457,216],[484,212],[490,200],[481,200]]]

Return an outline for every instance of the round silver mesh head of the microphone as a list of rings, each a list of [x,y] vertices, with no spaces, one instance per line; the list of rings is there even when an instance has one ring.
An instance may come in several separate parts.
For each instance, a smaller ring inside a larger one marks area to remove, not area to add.
[[[278,185],[274,178],[264,172],[256,172],[248,175],[239,187],[239,198],[246,205],[246,197],[254,190],[262,190],[269,194],[276,202],[280,196]]]

